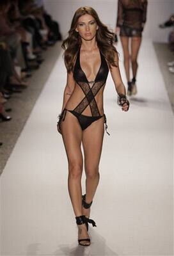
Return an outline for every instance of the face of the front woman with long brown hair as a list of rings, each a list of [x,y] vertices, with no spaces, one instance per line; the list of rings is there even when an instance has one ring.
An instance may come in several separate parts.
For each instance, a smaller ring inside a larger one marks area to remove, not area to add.
[[[79,35],[84,40],[90,41],[95,36],[97,29],[98,26],[95,19],[90,14],[86,13],[79,17],[75,31],[79,32]]]

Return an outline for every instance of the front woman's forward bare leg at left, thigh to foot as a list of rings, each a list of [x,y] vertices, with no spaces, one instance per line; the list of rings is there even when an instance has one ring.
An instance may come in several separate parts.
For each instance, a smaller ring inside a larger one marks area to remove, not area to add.
[[[75,216],[83,215],[81,177],[83,172],[83,156],[81,152],[82,130],[77,118],[67,111],[65,120],[61,122],[61,133],[68,158],[68,192]],[[78,225],[79,239],[89,238],[86,225]],[[90,244],[82,241],[81,244]]]

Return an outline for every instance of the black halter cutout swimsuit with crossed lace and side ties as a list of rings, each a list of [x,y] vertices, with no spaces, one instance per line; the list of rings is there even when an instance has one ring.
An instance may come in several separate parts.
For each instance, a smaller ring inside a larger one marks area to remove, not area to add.
[[[88,79],[86,78],[84,71],[81,68],[80,49],[79,49],[79,51],[77,52],[77,58],[74,65],[73,77],[75,82],[79,84],[79,86],[83,90],[85,96],[83,100],[81,100],[81,102],[75,107],[75,109],[70,110],[65,108],[63,109],[63,113],[61,114],[62,121],[65,120],[65,115],[67,111],[69,111],[74,116],[76,116],[77,120],[79,121],[79,124],[81,125],[82,130],[86,129],[93,122],[102,118],[102,116],[104,116],[104,123],[106,124],[106,115],[100,115],[97,102],[95,100],[95,96],[99,92],[100,88],[102,88],[102,86],[104,86],[104,84],[106,83],[107,75],[109,72],[107,62],[101,52],[100,52],[100,59],[101,59],[101,64],[100,64],[99,71],[97,72],[97,76],[95,77],[95,81],[89,82]],[[90,87],[90,84],[92,84],[91,87]],[[84,109],[86,109],[89,105],[90,105],[92,116],[82,115]],[[106,132],[107,132],[107,124],[106,124]],[[109,133],[107,132],[107,134]]]

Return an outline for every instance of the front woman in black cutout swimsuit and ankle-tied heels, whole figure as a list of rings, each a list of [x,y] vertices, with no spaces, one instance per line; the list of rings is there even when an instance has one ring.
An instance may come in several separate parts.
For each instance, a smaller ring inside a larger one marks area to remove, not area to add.
[[[63,108],[59,115],[61,133],[68,158],[68,191],[74,209],[79,244],[90,245],[88,223],[90,207],[99,184],[99,162],[106,116],[103,92],[109,69],[118,93],[118,104],[129,109],[118,67],[118,55],[113,36],[91,7],[79,8],[72,19],[68,38],[63,41],[67,85]],[[107,129],[107,125],[106,125]],[[81,177],[86,173],[86,194],[82,195]]]

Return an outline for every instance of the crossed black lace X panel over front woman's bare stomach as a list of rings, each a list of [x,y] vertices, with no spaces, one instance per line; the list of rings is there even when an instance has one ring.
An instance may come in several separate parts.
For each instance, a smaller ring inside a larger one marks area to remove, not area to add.
[[[79,86],[83,90],[85,97],[83,98],[83,100],[81,100],[81,102],[74,109],[74,111],[81,114],[83,113],[84,109],[86,109],[88,105],[90,105],[91,115],[100,116],[100,112],[97,107],[95,96],[99,92],[100,88],[102,88],[102,86],[105,84],[105,81],[99,81],[99,82],[93,83],[92,87],[90,87],[88,83],[84,83],[84,82],[77,82],[77,84],[79,84]]]

